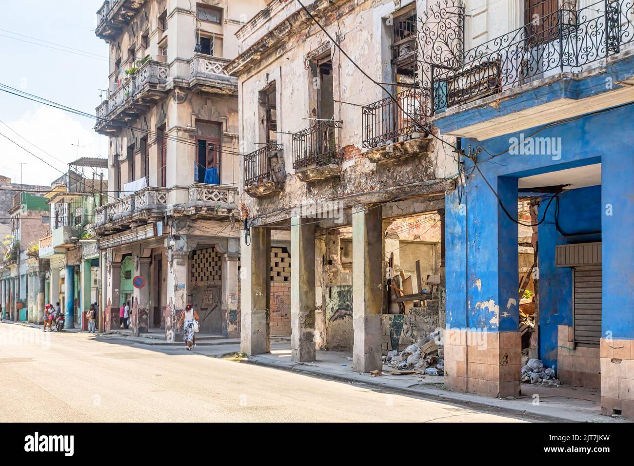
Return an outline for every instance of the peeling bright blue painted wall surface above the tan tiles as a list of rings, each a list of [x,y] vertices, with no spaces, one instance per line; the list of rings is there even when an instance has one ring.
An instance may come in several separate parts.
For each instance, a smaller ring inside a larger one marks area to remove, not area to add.
[[[522,131],[531,136],[538,128]],[[463,139],[463,147],[482,146],[477,160],[482,174],[498,191],[507,210],[514,215],[517,178],[590,164],[602,164],[602,186],[573,190],[560,200],[560,223],[566,231],[585,233],[602,230],[601,236],[580,235],[565,241],[586,242],[602,238],[604,261],[603,330],[614,338],[634,338],[634,107],[621,107],[588,115],[565,124],[545,127],[535,136],[555,139],[559,152],[548,155],[510,155],[489,159],[488,154],[507,151],[508,134],[487,141]],[[488,331],[517,329],[517,225],[502,212],[498,201],[477,171],[466,160],[469,177],[458,203],[458,191],[446,196],[446,285],[447,325],[482,327]],[[561,183],[566,183],[561,178]],[[554,204],[554,202],[553,202]],[[611,216],[605,214],[611,205]],[[551,208],[554,205],[551,205]],[[554,212],[554,210],[553,210]],[[598,226],[600,225],[600,228]],[[561,294],[570,290],[569,271],[555,271],[554,245],[560,235],[554,226],[540,226],[540,294],[550,287]],[[542,240],[543,236],[543,240]],[[543,241],[543,243],[542,243]],[[547,249],[551,249],[548,252]],[[552,254],[552,257],[550,257]],[[547,262],[551,264],[548,265]],[[550,268],[550,270],[549,270]],[[553,312],[558,296],[548,297]],[[495,320],[497,306],[498,321]],[[544,316],[541,354],[553,361],[552,345],[557,344],[556,326],[567,323],[571,313],[557,305],[557,314]],[[552,364],[549,364],[552,365]]]

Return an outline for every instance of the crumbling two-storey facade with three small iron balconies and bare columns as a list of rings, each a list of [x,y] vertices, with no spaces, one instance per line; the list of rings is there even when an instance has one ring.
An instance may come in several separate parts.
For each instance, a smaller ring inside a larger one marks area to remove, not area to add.
[[[444,191],[456,164],[451,146],[428,133],[429,93],[415,84],[421,5],[302,3],[307,11],[269,2],[236,33],[242,53],[226,67],[238,77],[246,153],[242,351],[270,349],[279,269],[270,252],[286,247],[292,358],[342,349],[354,370],[369,372],[392,344],[382,328],[392,321],[382,314],[399,306],[390,283],[409,279],[411,301],[444,314]],[[440,285],[433,297],[430,276]]]

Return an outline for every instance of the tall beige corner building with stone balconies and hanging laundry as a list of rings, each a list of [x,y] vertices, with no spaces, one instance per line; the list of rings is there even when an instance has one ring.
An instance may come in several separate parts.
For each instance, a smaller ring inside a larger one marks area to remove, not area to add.
[[[238,332],[237,80],[223,68],[238,54],[235,31],[262,6],[118,0],[98,11],[111,59],[95,127],[110,139],[108,202],[92,225],[105,330],[129,302],[134,335],[174,340],[193,302],[203,332]]]

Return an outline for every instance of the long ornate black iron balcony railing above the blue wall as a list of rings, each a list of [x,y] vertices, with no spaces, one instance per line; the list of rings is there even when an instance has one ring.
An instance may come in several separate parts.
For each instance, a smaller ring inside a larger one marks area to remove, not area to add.
[[[633,4],[600,0],[578,10],[560,8],[465,51],[461,65],[432,65],[432,112],[555,72],[578,73],[619,53],[634,41]]]

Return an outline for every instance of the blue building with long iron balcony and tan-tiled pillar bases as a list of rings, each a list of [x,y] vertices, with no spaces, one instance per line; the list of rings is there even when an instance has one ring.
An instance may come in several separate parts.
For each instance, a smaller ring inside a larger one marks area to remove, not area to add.
[[[460,40],[430,77],[432,120],[470,148],[446,196],[452,389],[521,392],[519,222],[536,252],[537,356],[634,418],[633,18],[620,0],[467,1],[445,23]]]

